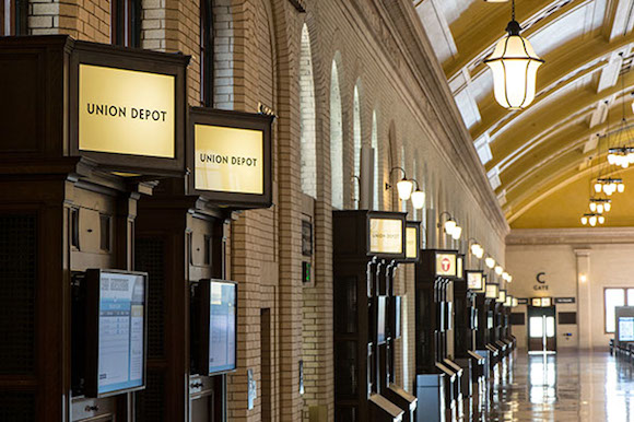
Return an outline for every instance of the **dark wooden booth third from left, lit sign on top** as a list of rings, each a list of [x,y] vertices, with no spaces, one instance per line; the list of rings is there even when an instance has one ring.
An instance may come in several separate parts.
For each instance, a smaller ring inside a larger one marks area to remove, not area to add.
[[[394,340],[401,336],[395,271],[415,259],[407,254],[406,214],[333,211],[332,220],[334,420],[411,420],[416,399],[394,384]]]

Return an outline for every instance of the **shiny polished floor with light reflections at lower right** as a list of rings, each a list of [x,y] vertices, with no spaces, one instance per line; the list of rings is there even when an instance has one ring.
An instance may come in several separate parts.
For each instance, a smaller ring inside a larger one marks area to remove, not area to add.
[[[634,422],[634,365],[608,352],[518,351],[509,364],[509,375],[491,386],[482,421]]]

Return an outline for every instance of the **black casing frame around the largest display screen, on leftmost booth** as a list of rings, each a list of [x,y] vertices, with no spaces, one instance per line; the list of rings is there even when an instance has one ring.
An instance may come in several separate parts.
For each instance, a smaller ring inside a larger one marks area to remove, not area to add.
[[[98,364],[99,364],[99,304],[101,304],[101,276],[102,272],[141,276],[143,277],[143,383],[138,387],[125,388],[99,394]],[[148,273],[139,271],[121,271],[106,269],[89,269],[85,272],[85,370],[84,370],[84,396],[110,397],[124,392],[138,391],[145,388],[148,382]]]

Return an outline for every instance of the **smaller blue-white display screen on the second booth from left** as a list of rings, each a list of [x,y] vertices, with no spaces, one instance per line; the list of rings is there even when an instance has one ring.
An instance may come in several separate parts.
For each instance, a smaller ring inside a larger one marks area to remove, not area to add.
[[[209,294],[209,373],[236,368],[236,284],[214,281]]]

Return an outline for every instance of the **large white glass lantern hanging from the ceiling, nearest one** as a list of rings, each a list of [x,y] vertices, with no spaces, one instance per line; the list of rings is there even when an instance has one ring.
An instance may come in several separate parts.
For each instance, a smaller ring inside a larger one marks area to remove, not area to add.
[[[526,108],[536,94],[537,70],[543,65],[528,39],[519,35],[521,26],[515,20],[515,0],[512,19],[506,26],[508,35],[497,43],[484,62],[493,72],[495,99],[508,109]]]

